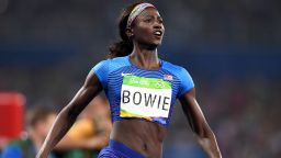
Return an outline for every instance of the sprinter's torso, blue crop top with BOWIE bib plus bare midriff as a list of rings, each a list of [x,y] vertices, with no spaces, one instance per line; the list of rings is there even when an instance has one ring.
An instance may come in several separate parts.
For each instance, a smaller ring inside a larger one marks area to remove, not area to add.
[[[101,61],[93,72],[110,102],[111,138],[146,157],[161,157],[176,100],[194,87],[188,71],[164,60],[159,69],[145,70],[125,56]]]

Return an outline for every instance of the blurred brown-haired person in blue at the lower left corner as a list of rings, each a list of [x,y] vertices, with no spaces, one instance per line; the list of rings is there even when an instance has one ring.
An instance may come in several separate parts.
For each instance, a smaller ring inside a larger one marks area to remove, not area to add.
[[[45,106],[35,106],[27,112],[26,135],[9,143],[2,158],[32,158],[42,146],[57,113]],[[54,158],[53,155],[49,158]]]

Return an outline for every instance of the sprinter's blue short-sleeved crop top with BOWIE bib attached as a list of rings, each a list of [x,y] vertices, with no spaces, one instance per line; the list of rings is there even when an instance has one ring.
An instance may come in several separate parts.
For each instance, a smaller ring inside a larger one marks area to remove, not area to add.
[[[110,102],[112,121],[146,120],[168,126],[176,100],[194,87],[189,72],[161,60],[157,70],[142,69],[128,56],[92,68]]]

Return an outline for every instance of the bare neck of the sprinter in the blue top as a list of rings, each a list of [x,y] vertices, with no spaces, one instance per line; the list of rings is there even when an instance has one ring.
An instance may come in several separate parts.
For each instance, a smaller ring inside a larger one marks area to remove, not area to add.
[[[142,46],[139,44],[134,44],[134,49],[130,55],[131,61],[137,67],[144,69],[158,69],[160,61],[158,58],[158,53],[156,47]]]

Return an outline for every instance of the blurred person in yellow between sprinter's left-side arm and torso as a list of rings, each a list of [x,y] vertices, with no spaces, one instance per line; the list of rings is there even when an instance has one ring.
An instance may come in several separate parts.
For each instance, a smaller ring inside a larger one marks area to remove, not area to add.
[[[95,97],[57,145],[57,155],[64,158],[97,158],[109,143],[112,123],[105,98]]]

